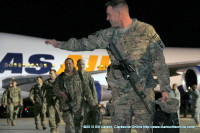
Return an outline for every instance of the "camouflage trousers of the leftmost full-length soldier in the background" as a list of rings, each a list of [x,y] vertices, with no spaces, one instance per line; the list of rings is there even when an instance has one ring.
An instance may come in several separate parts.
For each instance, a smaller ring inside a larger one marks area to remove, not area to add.
[[[19,106],[15,106],[13,103],[10,103],[7,109],[8,109],[8,121],[14,122],[19,112]]]

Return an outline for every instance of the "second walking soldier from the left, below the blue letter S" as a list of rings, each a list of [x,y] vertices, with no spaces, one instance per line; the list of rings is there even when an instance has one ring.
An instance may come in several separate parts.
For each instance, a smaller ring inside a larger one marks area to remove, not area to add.
[[[44,101],[44,94],[42,90],[43,78],[41,76],[37,77],[37,84],[34,85],[30,90],[29,98],[34,104],[34,115],[35,115],[35,128],[39,129],[39,121],[41,119],[41,124],[43,130],[46,129],[46,102]]]

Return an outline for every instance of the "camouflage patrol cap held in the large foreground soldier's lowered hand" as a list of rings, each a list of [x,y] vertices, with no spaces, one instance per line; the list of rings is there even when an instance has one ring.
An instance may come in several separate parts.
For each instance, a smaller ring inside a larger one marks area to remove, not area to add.
[[[164,102],[161,102],[162,98],[159,98],[154,103],[158,104],[162,111],[166,113],[176,113],[179,109],[179,100],[176,98],[166,98]]]

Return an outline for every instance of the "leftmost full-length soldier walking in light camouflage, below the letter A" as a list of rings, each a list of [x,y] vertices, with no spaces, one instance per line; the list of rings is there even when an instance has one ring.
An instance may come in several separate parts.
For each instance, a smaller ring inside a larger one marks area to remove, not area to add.
[[[15,120],[19,112],[19,106],[23,105],[21,89],[17,87],[17,81],[12,81],[12,87],[7,90],[7,106],[9,112],[8,124],[15,126]]]

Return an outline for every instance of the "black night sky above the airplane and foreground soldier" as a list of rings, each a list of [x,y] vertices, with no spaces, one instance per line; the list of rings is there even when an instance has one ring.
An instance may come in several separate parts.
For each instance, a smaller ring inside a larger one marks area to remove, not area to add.
[[[108,28],[107,0],[0,0],[0,32],[68,40]],[[167,47],[200,47],[199,0],[128,0],[130,15],[154,26]]]

